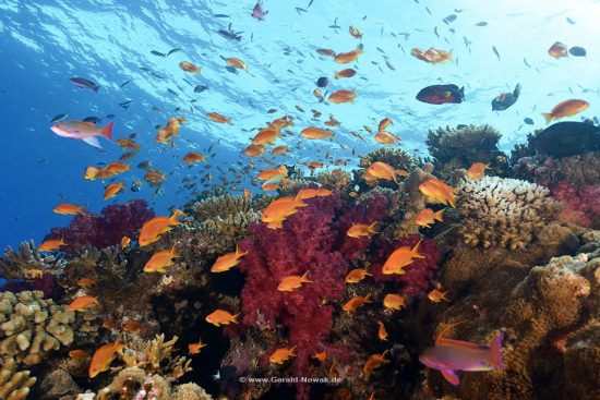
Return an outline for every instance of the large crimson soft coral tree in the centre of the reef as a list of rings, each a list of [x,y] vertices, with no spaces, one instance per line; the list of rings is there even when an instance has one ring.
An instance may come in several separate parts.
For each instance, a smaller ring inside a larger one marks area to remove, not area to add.
[[[273,230],[264,223],[253,225],[249,229],[253,239],[239,243],[248,252],[239,265],[245,276],[242,325],[264,329],[284,325],[289,346],[297,346],[293,363],[298,376],[308,372],[315,351],[343,353],[327,343],[334,306],[324,304],[324,300],[327,303],[343,300],[349,260],[363,257],[369,246],[368,239],[348,238],[346,231],[352,223],[383,219],[387,213],[387,198],[383,195],[357,207],[343,208],[337,193],[305,203],[309,206],[299,208],[284,222],[284,228]],[[284,277],[307,271],[311,283],[292,292],[277,290]],[[308,389],[299,385],[297,398],[308,398]]]

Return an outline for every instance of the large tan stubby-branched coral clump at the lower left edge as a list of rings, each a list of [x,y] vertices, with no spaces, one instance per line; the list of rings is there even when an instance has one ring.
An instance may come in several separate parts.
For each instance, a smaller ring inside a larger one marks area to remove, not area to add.
[[[0,293],[0,354],[26,365],[73,342],[75,314],[40,291]]]

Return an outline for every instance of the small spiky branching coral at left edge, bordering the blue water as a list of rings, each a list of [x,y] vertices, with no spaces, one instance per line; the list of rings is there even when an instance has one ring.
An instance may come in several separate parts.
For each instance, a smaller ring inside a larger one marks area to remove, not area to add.
[[[7,279],[31,279],[44,272],[58,272],[64,262],[53,255],[38,253],[33,241],[22,242],[19,251],[11,246],[0,257],[0,276]]]

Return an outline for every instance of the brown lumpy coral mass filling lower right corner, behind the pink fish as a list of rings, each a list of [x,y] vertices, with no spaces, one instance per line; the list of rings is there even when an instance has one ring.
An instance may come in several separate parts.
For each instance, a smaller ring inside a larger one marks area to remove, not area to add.
[[[598,234],[580,239],[581,251],[593,253],[554,257],[540,266],[533,265],[552,252],[540,251],[538,259],[505,250],[453,252],[441,278],[453,289],[453,302],[442,307],[422,304],[420,318],[436,320],[431,337],[452,325],[446,336],[473,342],[490,342],[502,328],[504,368],[465,373],[458,387],[429,374],[437,396],[598,398],[600,359],[591,343],[598,339],[600,252],[599,243],[592,242]],[[465,279],[467,275],[471,278]]]

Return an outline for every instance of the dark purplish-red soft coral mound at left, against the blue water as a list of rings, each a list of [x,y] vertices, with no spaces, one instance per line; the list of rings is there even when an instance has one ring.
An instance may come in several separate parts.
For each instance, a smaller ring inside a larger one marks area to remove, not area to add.
[[[101,215],[80,214],[65,228],[53,228],[51,237],[63,239],[61,247],[68,253],[84,246],[106,247],[121,242],[123,237],[133,238],[144,222],[154,217],[145,201],[136,199],[125,204],[105,207]]]

